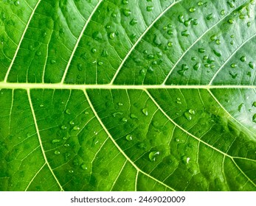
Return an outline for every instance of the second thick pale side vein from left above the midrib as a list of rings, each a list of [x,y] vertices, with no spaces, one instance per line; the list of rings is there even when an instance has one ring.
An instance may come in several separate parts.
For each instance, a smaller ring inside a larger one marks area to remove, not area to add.
[[[78,46],[78,44],[80,43],[81,38],[83,37],[83,33],[84,33],[84,31],[86,30],[87,25],[88,25],[89,22],[91,21],[92,16],[94,15],[94,13],[95,13],[95,11],[97,10],[97,8],[100,6],[100,3],[101,3],[102,1],[103,1],[103,0],[100,0],[100,1],[97,3],[96,7],[94,7],[94,10],[92,10],[91,14],[89,15],[88,20],[86,21],[86,24],[83,26],[83,29],[82,29],[82,31],[80,32],[80,35],[79,35],[79,37],[78,37],[78,39],[77,39],[77,43],[75,44],[75,47],[74,47],[74,49],[73,49],[73,51],[72,51],[72,54],[71,54],[71,56],[70,56],[70,58],[69,58],[69,62],[68,62],[68,64],[66,65],[66,69],[65,69],[65,71],[64,71],[63,77],[62,77],[62,79],[61,79],[61,81],[60,81],[61,84],[63,84],[63,82],[64,82],[64,80],[65,80],[65,78],[66,78],[66,74],[67,74],[67,72],[68,72],[68,70],[69,70],[69,66],[70,66],[70,64],[71,64],[71,62],[72,62],[72,59],[73,59],[74,55],[75,55],[75,51],[77,50],[77,46]]]

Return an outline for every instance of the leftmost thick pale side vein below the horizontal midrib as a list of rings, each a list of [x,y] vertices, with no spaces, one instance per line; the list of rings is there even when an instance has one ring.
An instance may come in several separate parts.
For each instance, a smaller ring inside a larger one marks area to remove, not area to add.
[[[42,151],[42,154],[44,156],[44,160],[46,162],[46,165],[49,168],[49,171],[51,171],[52,176],[55,178],[55,181],[58,183],[58,185],[60,187],[60,190],[64,191],[62,186],[60,185],[60,182],[58,181],[57,177],[55,176],[54,172],[52,171],[51,166],[49,166],[49,162],[48,162],[46,154],[44,152],[44,146],[43,146],[43,143],[41,141],[41,135],[40,135],[40,132],[39,132],[39,129],[38,129],[38,124],[37,124],[36,117],[35,117],[35,111],[34,111],[34,108],[33,108],[33,105],[32,105],[32,100],[31,100],[31,96],[30,96],[30,90],[27,90],[27,98],[28,98],[28,100],[30,102],[30,108],[31,108],[31,112],[32,112],[32,117],[33,117],[33,120],[34,120],[35,129],[36,129],[36,132],[37,132],[37,135],[38,135],[38,141],[39,141],[39,144],[41,146],[41,151]]]

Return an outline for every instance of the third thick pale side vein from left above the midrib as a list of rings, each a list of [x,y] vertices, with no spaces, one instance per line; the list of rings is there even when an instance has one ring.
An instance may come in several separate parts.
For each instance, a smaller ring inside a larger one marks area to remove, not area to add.
[[[181,1],[181,0],[179,0],[179,1]],[[148,26],[148,28],[145,29],[145,31],[142,33],[142,35],[140,35],[140,37],[136,40],[136,43],[134,43],[134,45],[131,47],[131,49],[126,54],[125,58],[122,60],[122,63],[120,64],[119,68],[117,68],[117,71],[114,74],[114,77],[112,78],[111,82],[109,83],[110,85],[113,85],[114,80],[117,78],[117,75],[119,74],[119,72],[120,72],[120,70],[122,68],[122,65],[128,59],[128,57],[130,56],[131,52],[134,51],[135,47],[140,42],[140,40],[142,40],[142,38],[145,36],[145,34],[148,32],[148,30],[151,29],[151,27],[156,23],[156,21],[158,21],[159,18],[162,17],[162,15],[164,15],[168,10],[170,10],[171,7],[173,7],[175,4],[179,3],[179,1],[175,1],[175,2],[173,2],[173,4],[170,4],[170,6],[167,7],[162,13],[160,13],[160,15],[157,16],[157,18]]]

